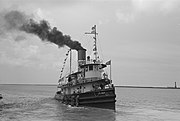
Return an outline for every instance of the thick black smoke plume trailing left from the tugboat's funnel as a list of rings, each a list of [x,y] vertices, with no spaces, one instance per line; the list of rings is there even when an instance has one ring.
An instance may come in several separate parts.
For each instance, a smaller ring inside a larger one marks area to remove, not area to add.
[[[75,50],[83,49],[81,43],[72,40],[69,35],[63,35],[56,27],[52,29],[46,20],[36,22],[20,11],[8,12],[5,14],[4,19],[6,29],[15,29],[37,35],[42,41],[54,43],[58,47],[68,46]]]

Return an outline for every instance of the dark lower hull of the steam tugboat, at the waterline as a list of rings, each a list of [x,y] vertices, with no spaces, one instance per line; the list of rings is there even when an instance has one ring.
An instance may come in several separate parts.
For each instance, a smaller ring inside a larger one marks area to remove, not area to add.
[[[87,106],[115,110],[115,89],[101,89],[71,95],[56,94],[56,99],[71,106]]]

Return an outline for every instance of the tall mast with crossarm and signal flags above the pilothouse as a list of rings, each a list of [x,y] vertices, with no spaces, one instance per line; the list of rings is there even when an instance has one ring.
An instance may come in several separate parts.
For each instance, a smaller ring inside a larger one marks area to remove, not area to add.
[[[98,35],[98,33],[96,32],[96,25],[94,25],[92,27],[92,31],[91,32],[86,32],[85,34],[92,34],[94,35],[93,39],[94,39],[94,48],[93,48],[93,51],[94,51],[94,56],[95,56],[95,60],[97,60],[98,56],[97,56],[97,38],[96,38],[96,35]]]

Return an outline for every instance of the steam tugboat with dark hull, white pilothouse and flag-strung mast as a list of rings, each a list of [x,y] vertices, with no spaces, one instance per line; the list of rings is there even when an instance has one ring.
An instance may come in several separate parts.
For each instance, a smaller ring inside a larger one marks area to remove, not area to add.
[[[92,32],[85,34],[93,35],[94,58],[86,57],[86,49],[77,50],[78,70],[72,73],[71,49],[68,51],[66,55],[70,55],[70,73],[64,77],[61,73],[55,99],[71,106],[95,107],[115,111],[116,94],[111,80],[111,60],[103,63],[98,56],[96,25],[92,27]],[[108,66],[110,66],[110,78],[104,71]]]

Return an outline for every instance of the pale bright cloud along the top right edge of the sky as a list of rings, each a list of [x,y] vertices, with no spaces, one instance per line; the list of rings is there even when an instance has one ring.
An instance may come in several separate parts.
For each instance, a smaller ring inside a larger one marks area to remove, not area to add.
[[[146,14],[168,15],[177,11],[179,6],[179,0],[131,0],[118,8],[115,15],[118,21],[129,23]]]

